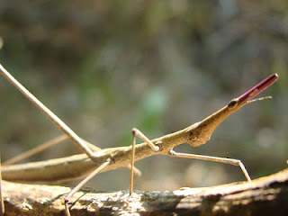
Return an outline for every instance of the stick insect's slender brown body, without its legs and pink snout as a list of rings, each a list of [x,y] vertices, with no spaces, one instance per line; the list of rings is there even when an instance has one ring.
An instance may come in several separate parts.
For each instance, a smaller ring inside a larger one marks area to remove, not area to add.
[[[149,148],[146,143],[138,144],[135,148],[135,160],[156,154],[167,155],[171,148],[183,143],[189,143],[193,147],[200,146],[210,139],[212,132],[220,122],[224,121],[231,113],[237,112],[239,108],[239,106],[229,107],[229,105],[226,105],[220,111],[211,114],[203,121],[196,122],[184,130],[151,140],[153,143],[159,141],[163,143],[157,152]],[[3,166],[2,177],[8,181],[26,183],[67,181],[84,177],[97,166],[103,164],[103,161],[109,157],[112,158],[112,163],[106,166],[102,172],[121,166],[128,166],[131,156],[130,151],[131,147],[105,148],[96,153],[98,161],[92,161],[85,154],[80,154],[22,165]]]

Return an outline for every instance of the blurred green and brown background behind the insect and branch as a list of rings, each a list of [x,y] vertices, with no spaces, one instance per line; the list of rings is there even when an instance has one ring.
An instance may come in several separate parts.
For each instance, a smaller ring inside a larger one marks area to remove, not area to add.
[[[130,129],[157,138],[201,121],[272,73],[280,78],[199,148],[241,159],[252,178],[287,164],[288,2],[98,0],[0,3],[1,64],[76,133],[100,148],[130,145]],[[5,160],[61,132],[0,77]],[[67,142],[30,159],[76,154]],[[148,157],[139,190],[245,180],[237,166]],[[76,182],[68,183],[68,185]],[[97,175],[99,190],[129,186],[129,170]]]

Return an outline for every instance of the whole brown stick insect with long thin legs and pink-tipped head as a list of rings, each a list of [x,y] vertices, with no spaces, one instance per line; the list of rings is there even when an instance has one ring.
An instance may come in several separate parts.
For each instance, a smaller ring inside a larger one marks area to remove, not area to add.
[[[23,156],[4,163],[2,166],[2,178],[4,180],[13,182],[28,182],[28,183],[47,183],[47,182],[63,182],[76,178],[84,178],[79,184],[72,189],[64,198],[66,215],[70,215],[68,202],[70,197],[76,193],[86,182],[88,182],[94,175],[98,173],[116,169],[121,166],[130,166],[130,193],[133,193],[133,174],[135,172],[134,162],[145,157],[161,154],[171,157],[188,157],[202,160],[216,161],[233,166],[239,166],[247,181],[251,181],[250,176],[243,163],[238,159],[226,157],[210,157],[194,154],[178,153],[173,150],[177,145],[189,143],[192,147],[200,146],[206,143],[210,138],[212,132],[218,125],[224,121],[231,113],[238,112],[247,103],[271,98],[270,96],[253,99],[260,94],[267,87],[274,84],[278,78],[277,74],[266,77],[262,82],[249,89],[246,93],[241,94],[235,99],[232,99],[226,106],[219,111],[212,113],[210,116],[202,121],[196,122],[183,130],[178,130],[167,134],[157,139],[148,139],[140,130],[132,129],[132,144],[129,147],[118,148],[96,148],[92,144],[79,138],[76,133],[61,121],[53,112],[31,94],[23,85],[21,85],[8,71],[0,65],[0,74],[4,76],[10,83],[12,83],[22,94],[24,94],[41,112],[43,112],[53,123],[62,130],[65,136],[53,140],[46,144],[44,148],[48,148],[52,143],[57,143],[63,139],[71,139],[78,148],[84,153],[70,157],[61,157],[57,159],[50,159],[47,161],[31,162],[20,165],[8,165],[23,158]],[[136,137],[142,139],[144,142],[136,145]],[[44,148],[41,148],[44,149]],[[39,150],[39,149],[38,149]],[[31,155],[31,152],[25,154]],[[1,186],[1,184],[0,184]],[[2,193],[1,193],[2,195]],[[2,212],[4,212],[3,199]]]

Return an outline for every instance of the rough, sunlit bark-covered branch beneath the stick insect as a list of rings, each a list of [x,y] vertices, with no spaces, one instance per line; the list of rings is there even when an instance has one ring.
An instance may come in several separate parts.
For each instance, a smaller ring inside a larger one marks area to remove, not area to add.
[[[3,182],[5,214],[65,215],[68,187]],[[81,191],[71,215],[288,215],[288,169],[252,182],[171,192]],[[138,214],[137,214],[138,213]]]

